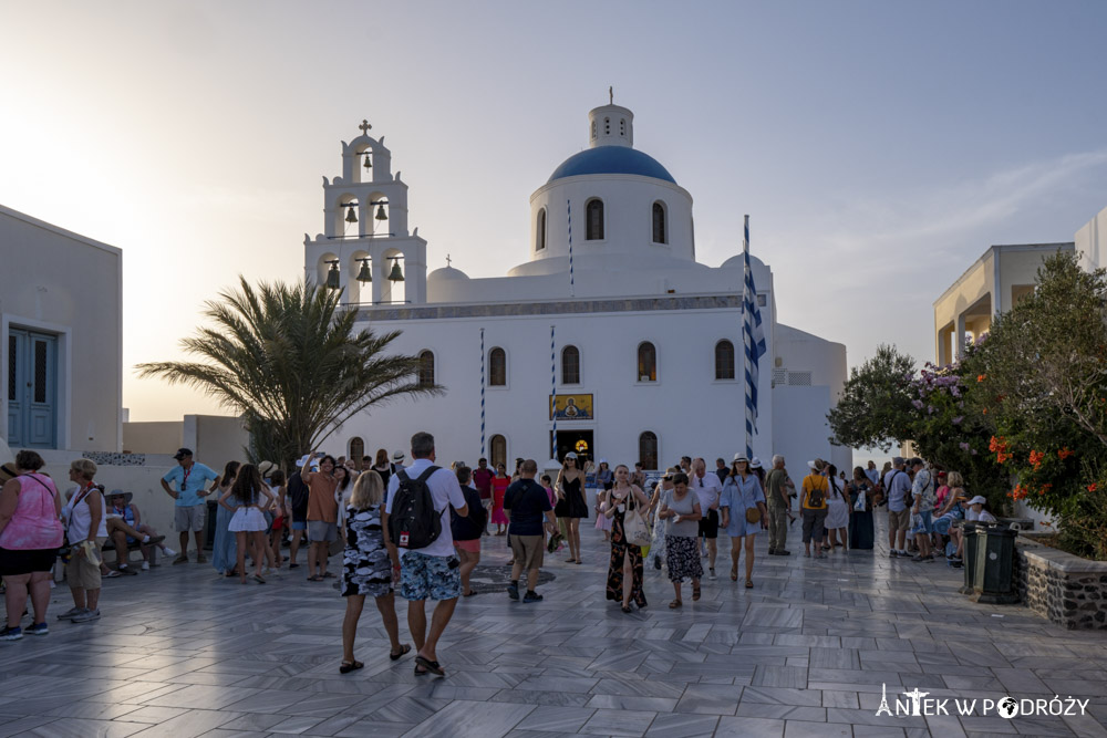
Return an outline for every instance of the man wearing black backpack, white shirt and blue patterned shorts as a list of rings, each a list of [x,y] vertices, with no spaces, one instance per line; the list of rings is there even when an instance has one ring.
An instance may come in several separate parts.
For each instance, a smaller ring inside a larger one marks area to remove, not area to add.
[[[438,638],[454,615],[462,592],[461,561],[449,531],[449,507],[469,514],[457,477],[434,465],[434,436],[412,436],[410,467],[389,479],[389,498],[382,520],[386,540],[400,549],[400,596],[407,600],[407,630],[417,648],[415,675],[445,672],[436,661]],[[426,601],[437,600],[426,627]]]

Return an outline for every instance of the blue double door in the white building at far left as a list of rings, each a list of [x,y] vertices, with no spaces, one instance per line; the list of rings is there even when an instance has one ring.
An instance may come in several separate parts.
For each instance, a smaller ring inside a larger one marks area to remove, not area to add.
[[[58,447],[58,336],[8,332],[8,445]]]

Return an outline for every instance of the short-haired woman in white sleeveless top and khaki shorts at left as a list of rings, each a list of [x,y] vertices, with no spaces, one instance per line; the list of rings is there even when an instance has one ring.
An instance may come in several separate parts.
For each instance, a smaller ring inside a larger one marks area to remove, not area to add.
[[[70,465],[70,481],[77,485],[62,517],[68,521],[65,533],[70,543],[70,560],[65,581],[73,595],[73,609],[59,620],[86,623],[100,620],[100,547],[107,538],[104,517],[104,495],[93,482],[96,465],[90,459],[76,459]]]

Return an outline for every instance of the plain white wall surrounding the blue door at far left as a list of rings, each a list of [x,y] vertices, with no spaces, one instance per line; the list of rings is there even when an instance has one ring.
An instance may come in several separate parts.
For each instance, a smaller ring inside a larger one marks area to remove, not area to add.
[[[123,252],[0,206],[0,258],[18,276],[0,298],[6,376],[11,330],[58,336],[54,447],[121,450]],[[77,366],[90,356],[95,361]],[[10,409],[8,392],[0,393],[6,439]]]

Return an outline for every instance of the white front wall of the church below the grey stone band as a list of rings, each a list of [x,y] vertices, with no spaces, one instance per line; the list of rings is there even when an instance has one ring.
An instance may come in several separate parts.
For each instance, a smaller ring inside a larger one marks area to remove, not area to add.
[[[490,449],[487,439],[500,434],[509,458],[548,458],[550,324],[557,326],[558,393],[591,394],[596,412],[592,420],[559,420],[558,429],[593,430],[597,457],[633,464],[639,435],[645,430],[658,435],[662,465],[682,454],[730,458],[744,446],[741,363],[735,380],[714,378],[717,341],[730,340],[741,357],[741,323],[734,310],[381,322],[380,330],[403,331],[395,351],[434,351],[435,380],[446,394],[376,408],[369,417],[346,423],[328,445],[340,448],[360,436],[368,449],[395,450],[405,448],[416,430],[428,430],[435,434],[441,460],[474,461],[480,455],[483,325],[486,352],[503,347],[508,371],[506,387],[485,387],[485,455]],[[635,382],[642,341],[656,347],[656,382]],[[560,352],[567,344],[581,353],[579,385],[560,383]],[[762,397],[769,396],[770,384],[770,373],[763,372]],[[773,423],[772,413],[764,412],[754,444],[759,456],[770,450]]]

